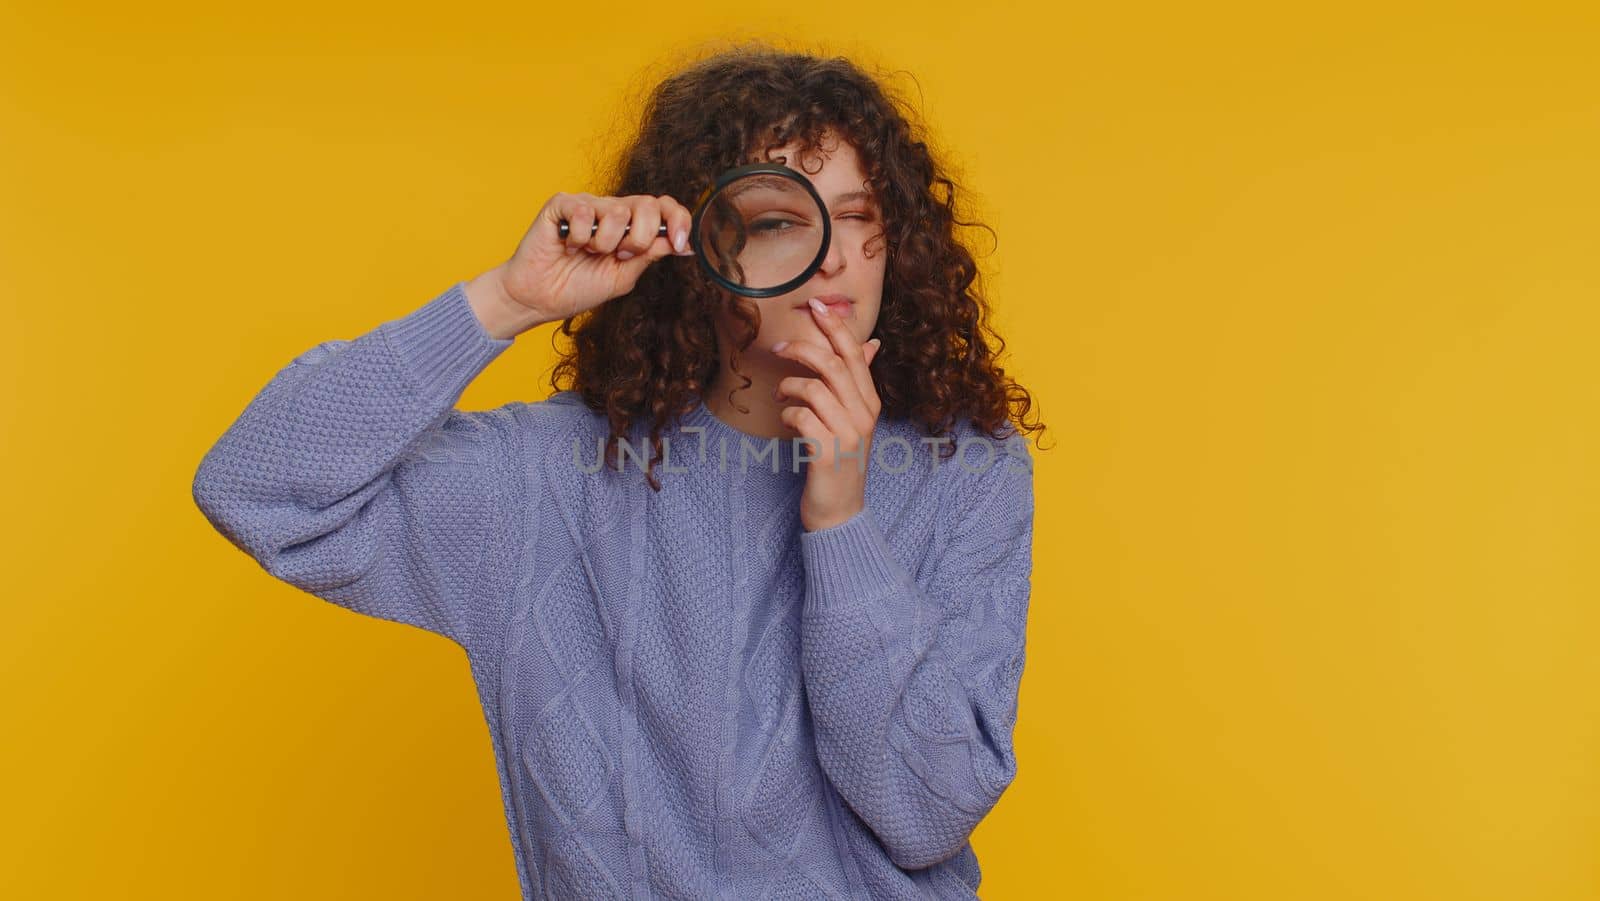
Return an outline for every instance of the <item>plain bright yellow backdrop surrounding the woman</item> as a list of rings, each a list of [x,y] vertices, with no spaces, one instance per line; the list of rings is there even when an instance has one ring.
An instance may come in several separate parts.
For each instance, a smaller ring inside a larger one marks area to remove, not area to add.
[[[190,479],[766,37],[915,74],[1051,427],[982,896],[1600,898],[1600,13],[1512,6],[6,3],[0,896],[515,896],[459,648]]]

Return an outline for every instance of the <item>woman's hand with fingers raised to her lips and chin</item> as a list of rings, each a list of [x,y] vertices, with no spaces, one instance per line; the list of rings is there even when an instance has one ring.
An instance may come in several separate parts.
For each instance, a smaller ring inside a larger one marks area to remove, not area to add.
[[[778,419],[818,446],[818,459],[806,463],[805,491],[800,495],[800,525],[806,531],[835,527],[861,512],[867,503],[867,463],[872,459],[872,432],[878,422],[878,389],[867,365],[877,355],[877,338],[856,344],[842,318],[811,304],[827,346],[790,341],[773,352],[795,360],[821,378],[789,376],[778,382],[778,400],[795,400]],[[856,453],[859,450],[859,455]],[[845,455],[840,459],[840,455]]]

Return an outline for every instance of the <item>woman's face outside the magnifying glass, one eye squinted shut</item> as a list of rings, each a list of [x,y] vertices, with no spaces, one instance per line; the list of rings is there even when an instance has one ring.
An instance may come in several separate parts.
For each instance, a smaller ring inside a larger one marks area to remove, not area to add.
[[[856,149],[834,134],[824,134],[816,157],[800,160],[795,144],[770,152],[770,157],[784,157],[784,165],[798,171],[811,181],[816,192],[827,203],[832,219],[832,238],[822,267],[800,288],[776,298],[739,298],[741,304],[754,304],[760,310],[760,331],[755,344],[744,352],[755,365],[755,370],[773,368],[778,378],[786,374],[814,374],[810,368],[782,357],[773,357],[770,349],[779,341],[814,341],[829,347],[827,336],[813,318],[810,298],[843,299],[840,306],[830,307],[845,320],[850,333],[861,344],[872,336],[872,328],[878,320],[878,304],[883,299],[883,275],[886,270],[886,245],[883,234],[883,218],[878,211],[877,198],[870,197],[867,173],[862,171],[856,157]],[[818,168],[821,163],[821,168]],[[816,170],[816,171],[806,171]],[[834,298],[830,298],[834,296]],[[731,333],[731,317],[718,314],[718,339],[728,347]],[[741,370],[750,366],[741,362]],[[750,373],[755,376],[757,373]]]

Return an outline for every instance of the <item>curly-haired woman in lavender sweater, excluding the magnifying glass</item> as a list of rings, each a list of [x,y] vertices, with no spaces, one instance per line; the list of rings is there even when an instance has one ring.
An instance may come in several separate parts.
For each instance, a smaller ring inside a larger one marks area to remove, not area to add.
[[[525,898],[976,898],[968,835],[1016,773],[1029,395],[898,102],[843,59],[690,66],[608,194],[298,357],[198,467],[274,576],[462,645]],[[834,237],[752,301],[675,198],[758,160]],[[557,320],[552,397],[453,408]]]

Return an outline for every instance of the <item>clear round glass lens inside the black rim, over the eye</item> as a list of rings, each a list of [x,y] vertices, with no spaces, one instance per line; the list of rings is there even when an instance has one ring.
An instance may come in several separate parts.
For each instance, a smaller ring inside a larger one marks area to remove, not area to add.
[[[816,261],[826,216],[816,197],[790,178],[741,176],[707,198],[701,250],[712,270],[734,285],[774,288]]]

